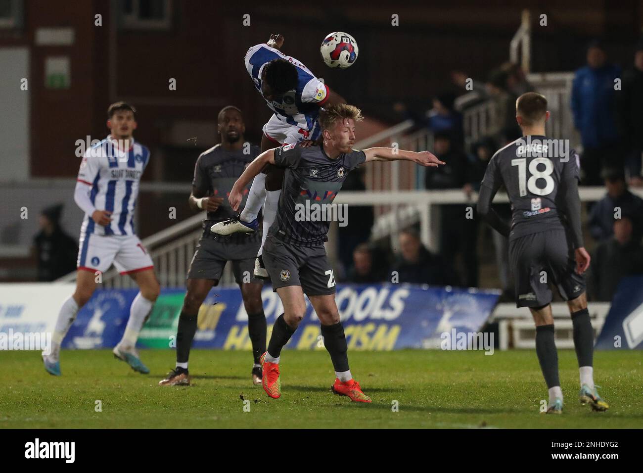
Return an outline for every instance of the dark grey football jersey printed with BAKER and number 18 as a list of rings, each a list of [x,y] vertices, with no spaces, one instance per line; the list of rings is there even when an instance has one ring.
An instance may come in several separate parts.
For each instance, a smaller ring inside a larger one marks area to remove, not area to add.
[[[562,181],[579,177],[579,157],[574,149],[567,156],[552,149],[546,136],[523,136],[493,155],[482,185],[495,193],[501,185],[511,202],[509,239],[564,229],[556,198]],[[554,156],[556,155],[556,156]]]

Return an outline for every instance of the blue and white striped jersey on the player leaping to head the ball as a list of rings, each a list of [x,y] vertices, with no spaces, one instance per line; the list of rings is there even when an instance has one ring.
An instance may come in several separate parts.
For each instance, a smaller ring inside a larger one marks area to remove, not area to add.
[[[294,64],[299,75],[299,82],[296,90],[285,93],[279,101],[269,102],[266,100],[268,107],[275,112],[277,118],[285,123],[296,125],[304,130],[311,130],[319,115],[321,104],[328,98],[328,87],[294,57],[287,56],[267,44],[257,44],[246,53],[246,70],[248,70],[259,93],[261,93],[261,71],[266,63],[273,59],[285,59]]]

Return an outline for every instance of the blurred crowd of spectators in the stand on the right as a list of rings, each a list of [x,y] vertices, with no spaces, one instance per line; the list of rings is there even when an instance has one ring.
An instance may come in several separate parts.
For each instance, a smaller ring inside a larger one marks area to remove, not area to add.
[[[451,73],[451,79],[458,88],[476,91],[476,103],[490,101],[496,110],[487,136],[469,149],[464,146],[462,113],[455,107],[455,93],[437,94],[426,112],[410,109],[402,102],[394,104],[394,110],[401,118],[414,120],[417,128],[430,129],[434,138],[431,151],[446,162],[426,172],[424,188],[462,189],[471,196],[479,189],[491,156],[521,136],[515,118],[516,98],[534,87],[520,66],[509,62],[491,71],[485,82],[469,79],[461,71]],[[601,41],[590,42],[586,64],[575,71],[570,96],[574,127],[581,139],[581,185],[604,185],[606,190],[604,198],[588,206],[587,230],[593,240],[590,246],[595,247],[588,295],[593,300],[610,301],[622,277],[643,274],[643,199],[629,190],[643,187],[643,39],[635,46],[633,65],[624,72],[610,62]],[[466,207],[440,206],[437,254],[422,245],[415,228],[403,230],[388,255],[367,243],[368,236],[363,233],[350,242],[349,257],[346,240],[340,239],[344,252],[341,259],[347,268],[345,280],[374,283],[397,277],[400,283],[478,286],[477,242],[478,234],[484,231],[491,232],[500,285],[511,300],[507,240],[486,225],[479,225],[475,216],[466,218]],[[509,204],[495,207],[503,218],[511,218]]]

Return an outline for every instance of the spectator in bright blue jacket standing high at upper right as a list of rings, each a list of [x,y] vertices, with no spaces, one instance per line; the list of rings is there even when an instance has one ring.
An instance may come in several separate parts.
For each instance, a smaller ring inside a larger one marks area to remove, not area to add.
[[[574,126],[581,133],[581,169],[586,185],[601,185],[601,168],[622,166],[616,125],[614,80],[620,68],[607,62],[600,41],[587,49],[587,65],[576,71],[572,84]]]

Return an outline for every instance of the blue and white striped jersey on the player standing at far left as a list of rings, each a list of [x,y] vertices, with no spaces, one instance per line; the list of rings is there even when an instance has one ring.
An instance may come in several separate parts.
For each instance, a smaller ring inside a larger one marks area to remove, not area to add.
[[[112,212],[112,221],[102,227],[86,213],[81,234],[134,235],[134,205],[141,175],[149,160],[149,149],[133,139],[129,150],[118,149],[111,136],[87,149],[80,163],[78,181],[91,185],[91,203],[98,210]]]

